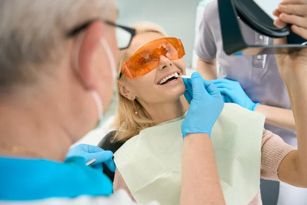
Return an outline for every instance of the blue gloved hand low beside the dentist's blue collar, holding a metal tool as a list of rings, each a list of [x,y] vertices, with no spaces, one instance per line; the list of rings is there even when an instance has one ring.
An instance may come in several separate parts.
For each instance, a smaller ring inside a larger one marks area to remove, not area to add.
[[[115,172],[115,163],[112,159],[113,153],[111,151],[104,151],[103,149],[92,146],[80,144],[69,150],[67,158],[70,157],[83,157],[85,163],[96,159],[96,162],[92,165],[93,168],[102,171],[102,163],[105,163],[107,168],[112,172]]]

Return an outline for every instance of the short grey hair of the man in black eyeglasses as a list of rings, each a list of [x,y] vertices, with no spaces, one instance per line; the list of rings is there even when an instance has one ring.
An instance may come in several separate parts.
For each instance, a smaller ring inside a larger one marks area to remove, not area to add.
[[[0,94],[35,81],[43,65],[57,63],[70,29],[106,17],[113,5],[111,0],[0,0]]]

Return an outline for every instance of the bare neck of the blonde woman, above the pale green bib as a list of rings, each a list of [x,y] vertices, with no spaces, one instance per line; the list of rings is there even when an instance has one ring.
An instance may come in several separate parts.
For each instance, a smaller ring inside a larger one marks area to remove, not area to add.
[[[178,100],[155,105],[143,105],[155,124],[160,124],[184,115],[189,109],[189,103],[182,95]]]

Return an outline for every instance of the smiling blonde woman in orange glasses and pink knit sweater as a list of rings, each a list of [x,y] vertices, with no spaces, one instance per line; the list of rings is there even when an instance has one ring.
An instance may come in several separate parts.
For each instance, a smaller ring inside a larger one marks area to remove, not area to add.
[[[116,119],[118,132],[115,141],[125,142],[145,128],[183,116],[189,108],[189,103],[183,95],[186,87],[182,78],[177,78],[178,75],[186,74],[185,62],[182,59],[184,53],[180,52],[180,40],[166,38],[163,29],[150,23],[139,24],[136,30],[137,35],[131,46],[119,54],[120,106]],[[160,46],[161,40],[166,43],[163,48]],[[147,45],[148,43],[151,44]],[[151,49],[152,54],[144,57],[143,53],[138,53],[142,47]],[[159,61],[155,61],[155,56],[157,57],[157,52],[161,53],[161,49],[166,49],[162,53],[178,55],[160,54]],[[128,60],[132,55],[135,61],[138,58],[137,65],[131,64]],[[171,57],[169,59],[166,56]],[[142,65],[155,63],[156,67],[152,70],[138,69]],[[284,181],[296,187],[307,187],[307,176],[300,172],[301,161],[295,148],[267,130],[263,132],[261,146],[261,178]],[[117,170],[114,190],[118,189],[129,192]],[[131,194],[130,196],[133,198]],[[261,204],[260,193],[249,204]]]

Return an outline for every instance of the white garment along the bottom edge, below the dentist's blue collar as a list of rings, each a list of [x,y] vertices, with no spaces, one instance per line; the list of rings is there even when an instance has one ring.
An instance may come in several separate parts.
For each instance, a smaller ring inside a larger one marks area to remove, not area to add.
[[[77,198],[49,198],[35,201],[1,201],[0,205],[137,205],[124,190],[119,190],[115,194],[105,196],[80,196]],[[138,204],[140,205],[140,204]],[[152,201],[143,205],[159,205]]]

